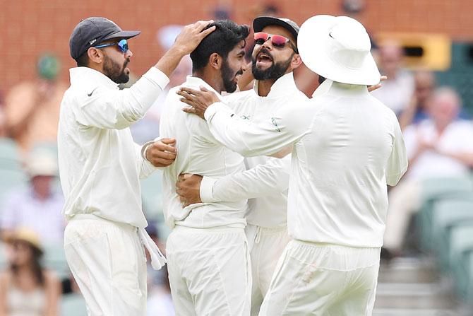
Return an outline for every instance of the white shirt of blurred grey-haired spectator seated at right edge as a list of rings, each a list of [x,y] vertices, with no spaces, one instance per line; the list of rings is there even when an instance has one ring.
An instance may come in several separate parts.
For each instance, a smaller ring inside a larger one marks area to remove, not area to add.
[[[473,124],[466,120],[453,121],[438,134],[431,119],[411,125],[404,131],[407,156],[412,158],[419,139],[436,144],[437,151],[424,151],[409,166],[405,179],[425,180],[429,177],[467,177],[469,166],[444,153],[473,153]]]

